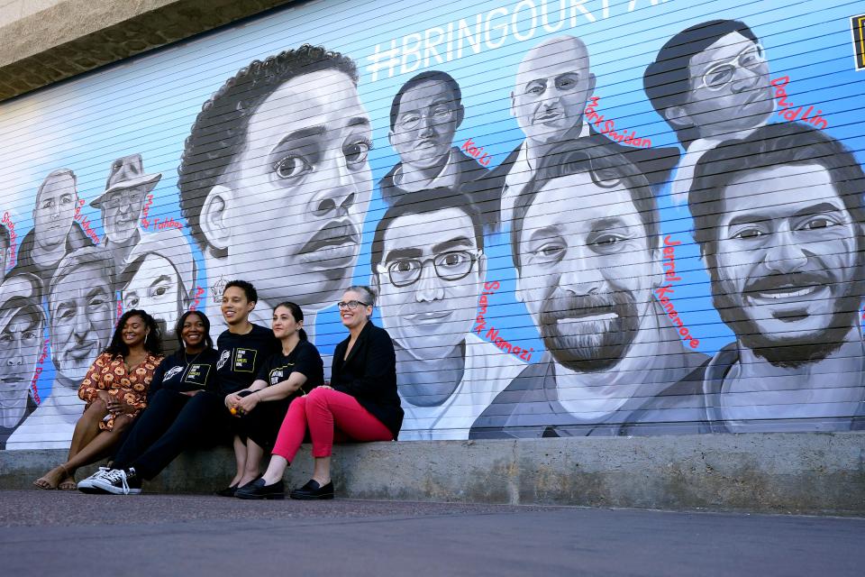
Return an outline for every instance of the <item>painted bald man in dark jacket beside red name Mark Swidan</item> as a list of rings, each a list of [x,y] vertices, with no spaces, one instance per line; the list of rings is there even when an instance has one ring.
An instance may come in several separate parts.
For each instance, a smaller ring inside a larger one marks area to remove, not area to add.
[[[487,177],[465,187],[476,202],[491,201],[485,208],[487,215],[496,218],[497,214],[500,223],[509,223],[514,200],[533,179],[551,148],[559,142],[596,134],[583,117],[595,85],[588,49],[578,38],[545,40],[526,53],[517,69],[510,108],[525,140]],[[678,161],[675,149],[636,148],[602,138],[609,150],[624,154],[636,164],[652,185],[666,181]],[[498,212],[492,210],[496,205]]]

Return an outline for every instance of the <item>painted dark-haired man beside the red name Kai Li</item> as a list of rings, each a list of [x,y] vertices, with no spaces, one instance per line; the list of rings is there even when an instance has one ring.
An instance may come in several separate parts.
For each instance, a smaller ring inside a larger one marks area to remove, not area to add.
[[[464,115],[460,85],[446,72],[422,72],[400,87],[387,133],[400,161],[378,182],[388,206],[406,193],[456,188],[487,174],[480,159],[451,145]]]

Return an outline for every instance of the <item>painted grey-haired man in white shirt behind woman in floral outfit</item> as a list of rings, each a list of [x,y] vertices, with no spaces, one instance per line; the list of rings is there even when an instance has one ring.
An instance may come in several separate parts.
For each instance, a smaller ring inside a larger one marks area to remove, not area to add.
[[[49,398],[6,442],[9,449],[65,449],[84,401],[78,386],[111,341],[114,328],[114,261],[101,247],[70,252],[48,290],[54,382]]]

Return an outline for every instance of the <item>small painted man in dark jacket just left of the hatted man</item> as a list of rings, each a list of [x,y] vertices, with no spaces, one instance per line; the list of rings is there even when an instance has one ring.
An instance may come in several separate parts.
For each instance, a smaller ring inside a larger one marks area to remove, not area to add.
[[[18,248],[18,259],[10,274],[28,272],[39,277],[42,290],[69,252],[92,246],[81,225],[75,222],[78,206],[75,173],[69,169],[52,170],[36,193],[33,228]]]

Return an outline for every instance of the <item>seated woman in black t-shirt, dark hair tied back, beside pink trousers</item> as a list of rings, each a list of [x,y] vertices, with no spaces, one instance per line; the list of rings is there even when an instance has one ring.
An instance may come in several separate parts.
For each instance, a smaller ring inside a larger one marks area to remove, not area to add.
[[[236,430],[246,437],[246,467],[239,487],[258,479],[261,457],[273,449],[291,401],[324,381],[322,357],[306,338],[300,307],[280,303],[273,309],[271,326],[282,350],[264,362],[250,387],[225,398],[225,406],[240,418]]]

